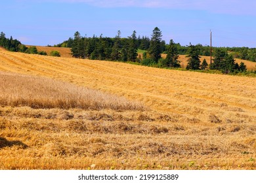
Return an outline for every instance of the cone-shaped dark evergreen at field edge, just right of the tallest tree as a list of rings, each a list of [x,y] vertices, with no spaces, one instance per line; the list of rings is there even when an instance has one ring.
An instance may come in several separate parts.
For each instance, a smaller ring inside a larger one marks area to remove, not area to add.
[[[181,67],[181,64],[178,58],[179,58],[179,55],[178,55],[177,46],[175,42],[173,42],[173,40],[171,39],[169,43],[169,48],[167,50],[167,56],[166,56],[167,67]]]

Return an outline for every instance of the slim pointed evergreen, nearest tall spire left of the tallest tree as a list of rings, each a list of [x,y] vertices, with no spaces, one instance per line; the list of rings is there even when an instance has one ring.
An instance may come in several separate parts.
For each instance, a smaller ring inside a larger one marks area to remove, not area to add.
[[[128,56],[127,59],[129,61],[136,61],[138,56],[138,48],[137,48],[137,37],[136,31],[133,31],[131,37],[129,37],[129,49],[128,49]]]

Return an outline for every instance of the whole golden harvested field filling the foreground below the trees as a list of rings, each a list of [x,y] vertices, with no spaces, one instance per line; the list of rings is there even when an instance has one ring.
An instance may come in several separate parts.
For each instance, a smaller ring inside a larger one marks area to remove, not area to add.
[[[0,169],[256,169],[256,78],[3,49],[0,71]]]

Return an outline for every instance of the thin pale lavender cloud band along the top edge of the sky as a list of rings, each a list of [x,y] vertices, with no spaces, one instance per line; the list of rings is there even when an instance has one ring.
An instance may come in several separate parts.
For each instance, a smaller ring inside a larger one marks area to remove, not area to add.
[[[16,0],[22,1],[22,0]],[[23,0],[32,1],[32,0]],[[205,10],[224,14],[245,14],[256,16],[254,0],[34,0],[39,2],[85,3],[95,7],[144,7],[182,10]]]

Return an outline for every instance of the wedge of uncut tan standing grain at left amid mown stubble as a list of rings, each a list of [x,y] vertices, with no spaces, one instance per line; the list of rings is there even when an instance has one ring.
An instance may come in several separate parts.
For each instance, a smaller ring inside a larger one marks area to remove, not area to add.
[[[0,105],[32,108],[142,110],[123,97],[38,76],[0,72]]]

